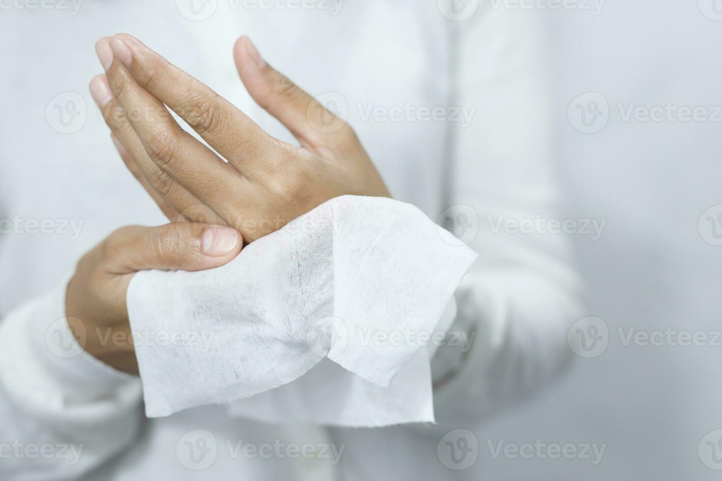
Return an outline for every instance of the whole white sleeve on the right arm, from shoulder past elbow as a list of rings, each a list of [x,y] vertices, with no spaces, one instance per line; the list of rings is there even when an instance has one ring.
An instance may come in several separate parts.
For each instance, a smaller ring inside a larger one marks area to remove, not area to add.
[[[565,370],[573,359],[567,329],[582,317],[583,289],[565,234],[548,224],[558,199],[549,49],[539,12],[484,4],[451,35],[453,105],[476,112],[468,126],[450,124],[448,206],[456,207],[448,219],[474,229],[476,216],[469,246],[479,257],[456,289],[450,327],[471,342],[440,348],[432,373],[438,423],[469,425]]]

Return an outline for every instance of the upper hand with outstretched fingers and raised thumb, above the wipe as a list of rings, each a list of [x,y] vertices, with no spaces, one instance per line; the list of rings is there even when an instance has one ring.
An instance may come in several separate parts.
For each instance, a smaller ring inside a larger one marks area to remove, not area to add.
[[[300,147],[269,136],[130,35],[103,38],[96,50],[106,74],[92,80],[93,97],[123,161],[170,219],[210,217],[252,242],[339,195],[389,195],[352,128],[269,66],[246,37],[234,48],[240,78]]]

